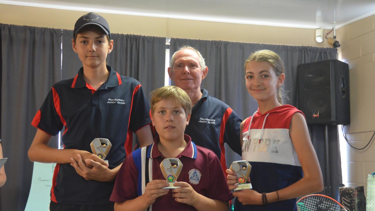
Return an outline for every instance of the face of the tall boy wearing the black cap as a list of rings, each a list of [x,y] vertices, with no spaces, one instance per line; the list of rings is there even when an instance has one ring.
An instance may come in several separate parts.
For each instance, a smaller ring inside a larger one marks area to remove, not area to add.
[[[78,33],[76,41],[72,40],[72,47],[84,67],[96,68],[105,66],[107,54],[113,49],[113,40],[108,42],[107,35],[100,31],[87,31]]]

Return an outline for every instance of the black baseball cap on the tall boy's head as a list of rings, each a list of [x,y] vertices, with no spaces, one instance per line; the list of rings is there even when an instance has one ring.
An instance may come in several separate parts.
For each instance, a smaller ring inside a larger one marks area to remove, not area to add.
[[[99,26],[104,31],[104,33],[108,35],[111,39],[110,26],[108,25],[108,22],[103,17],[93,12],[89,12],[86,15],[83,15],[82,17],[78,18],[77,22],[75,22],[75,25],[74,25],[73,38],[75,38],[75,35],[84,26],[87,26],[90,24]]]

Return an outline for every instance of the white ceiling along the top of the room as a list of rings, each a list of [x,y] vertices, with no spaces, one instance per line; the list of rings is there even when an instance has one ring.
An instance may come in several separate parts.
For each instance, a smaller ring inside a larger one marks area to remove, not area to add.
[[[0,0],[3,4],[229,23],[336,28],[375,14],[375,0]]]

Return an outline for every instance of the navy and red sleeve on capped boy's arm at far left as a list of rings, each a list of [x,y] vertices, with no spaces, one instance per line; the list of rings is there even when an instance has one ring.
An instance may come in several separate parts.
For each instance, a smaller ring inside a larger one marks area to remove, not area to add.
[[[63,129],[63,123],[57,113],[56,108],[60,108],[58,93],[52,87],[45,98],[42,107],[37,111],[31,125],[55,136]]]

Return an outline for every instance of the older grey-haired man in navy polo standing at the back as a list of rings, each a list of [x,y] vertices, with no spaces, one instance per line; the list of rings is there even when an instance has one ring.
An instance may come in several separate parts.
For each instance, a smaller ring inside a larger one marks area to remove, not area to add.
[[[201,89],[208,67],[198,50],[190,46],[181,47],[173,54],[169,66],[169,78],[176,86],[185,90],[193,103],[185,134],[189,135],[196,145],[211,149],[219,158],[225,172],[227,167],[224,143],[228,143],[234,152],[241,155],[242,120],[229,105],[208,95],[207,90]]]

